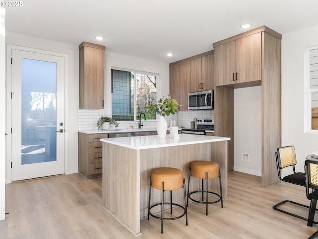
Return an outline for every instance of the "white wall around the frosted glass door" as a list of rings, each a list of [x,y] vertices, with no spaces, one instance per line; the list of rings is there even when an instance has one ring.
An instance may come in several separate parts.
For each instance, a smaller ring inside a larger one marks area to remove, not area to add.
[[[79,46],[13,32],[6,32],[5,42],[68,55],[65,84],[65,173],[78,172]],[[7,167],[7,182],[10,181],[11,169]]]

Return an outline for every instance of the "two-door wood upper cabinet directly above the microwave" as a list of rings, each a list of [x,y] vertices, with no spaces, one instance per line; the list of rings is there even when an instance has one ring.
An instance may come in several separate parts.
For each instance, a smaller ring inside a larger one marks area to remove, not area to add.
[[[201,54],[191,62],[190,92],[207,91],[214,89],[214,54]]]

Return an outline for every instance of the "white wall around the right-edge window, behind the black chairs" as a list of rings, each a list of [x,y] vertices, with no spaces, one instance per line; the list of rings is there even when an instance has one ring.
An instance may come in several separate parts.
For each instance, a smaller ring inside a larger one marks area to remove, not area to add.
[[[304,132],[304,56],[306,48],[315,45],[318,25],[284,34],[282,39],[282,145],[295,146],[296,168],[301,172],[306,155],[318,151],[318,133]]]

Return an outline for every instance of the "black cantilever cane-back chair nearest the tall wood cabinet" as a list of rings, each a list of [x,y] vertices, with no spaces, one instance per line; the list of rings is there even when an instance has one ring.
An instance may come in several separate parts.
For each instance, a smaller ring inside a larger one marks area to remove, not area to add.
[[[295,147],[294,146],[279,147],[279,148],[277,148],[277,152],[275,152],[275,154],[276,154],[276,164],[277,164],[277,171],[278,171],[279,179],[284,181],[284,182],[287,182],[287,183],[292,183],[292,184],[306,187],[305,173],[295,171],[295,165],[297,164]],[[285,177],[282,177],[282,171],[287,170],[287,168],[292,168],[293,173],[289,174]],[[302,206],[302,207],[305,207],[308,209],[310,208],[309,206],[304,205],[304,204],[300,204],[300,203],[297,203],[297,202],[294,202],[291,200],[284,200],[284,201],[281,201],[281,202],[275,204],[273,206],[273,209],[308,221],[308,218],[304,218],[302,216],[299,216],[299,215],[293,214],[291,212],[280,209],[279,206],[281,206],[285,203],[292,203],[292,204]]]

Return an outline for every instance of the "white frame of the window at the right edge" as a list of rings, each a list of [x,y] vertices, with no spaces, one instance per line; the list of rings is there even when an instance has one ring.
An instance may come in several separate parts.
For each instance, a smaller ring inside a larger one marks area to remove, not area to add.
[[[308,47],[305,52],[305,125],[306,133],[318,133],[318,129],[312,129],[312,94],[318,93],[316,88],[310,87],[310,51],[318,49],[318,45]]]

